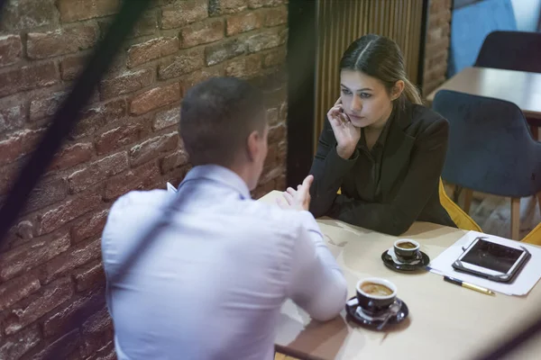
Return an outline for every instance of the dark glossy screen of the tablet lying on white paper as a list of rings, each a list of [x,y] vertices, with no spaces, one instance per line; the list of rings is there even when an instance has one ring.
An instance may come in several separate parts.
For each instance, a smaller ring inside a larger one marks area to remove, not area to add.
[[[462,258],[465,263],[506,274],[524,250],[479,240]]]

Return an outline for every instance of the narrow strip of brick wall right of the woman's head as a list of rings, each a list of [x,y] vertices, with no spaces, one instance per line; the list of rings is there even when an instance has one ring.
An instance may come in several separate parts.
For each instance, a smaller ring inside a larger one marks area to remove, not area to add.
[[[445,81],[449,55],[452,0],[430,0],[426,29],[423,94],[430,94]]]

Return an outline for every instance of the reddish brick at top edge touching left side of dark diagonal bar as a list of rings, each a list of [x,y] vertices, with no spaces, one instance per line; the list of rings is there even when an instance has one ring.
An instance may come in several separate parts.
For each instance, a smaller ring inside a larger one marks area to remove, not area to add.
[[[62,23],[77,22],[115,14],[120,0],[59,0],[58,7]]]

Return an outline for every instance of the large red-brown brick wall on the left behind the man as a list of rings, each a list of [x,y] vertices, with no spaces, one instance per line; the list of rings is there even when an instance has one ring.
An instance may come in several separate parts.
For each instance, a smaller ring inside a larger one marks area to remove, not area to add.
[[[0,198],[105,33],[119,0],[9,0],[0,22]],[[250,78],[267,94],[259,196],[285,184],[287,0],[155,0],[0,247],[0,359],[112,359],[100,233],[133,189],[178,184],[186,89]],[[82,319],[77,324],[74,319]]]

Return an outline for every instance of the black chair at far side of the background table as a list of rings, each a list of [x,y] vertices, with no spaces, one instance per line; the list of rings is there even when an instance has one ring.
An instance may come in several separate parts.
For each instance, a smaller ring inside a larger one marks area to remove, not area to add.
[[[475,67],[541,73],[541,32],[492,31],[482,43]],[[527,118],[535,139],[541,119]]]

